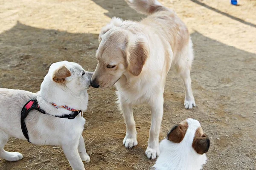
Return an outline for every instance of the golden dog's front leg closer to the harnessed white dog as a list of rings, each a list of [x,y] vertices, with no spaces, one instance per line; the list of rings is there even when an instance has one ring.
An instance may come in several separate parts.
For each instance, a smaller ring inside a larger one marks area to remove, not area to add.
[[[137,131],[134,121],[134,116],[132,112],[132,105],[131,104],[123,104],[120,102],[122,112],[125,119],[126,124],[126,135],[123,140],[123,144],[126,148],[132,148],[138,144],[137,142]]]

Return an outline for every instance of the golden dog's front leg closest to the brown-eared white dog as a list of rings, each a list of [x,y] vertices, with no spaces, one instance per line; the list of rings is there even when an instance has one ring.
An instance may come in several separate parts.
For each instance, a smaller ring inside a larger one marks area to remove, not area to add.
[[[163,94],[154,99],[151,104],[151,127],[149,131],[148,147],[145,152],[148,159],[155,159],[160,154],[159,133],[163,117]]]

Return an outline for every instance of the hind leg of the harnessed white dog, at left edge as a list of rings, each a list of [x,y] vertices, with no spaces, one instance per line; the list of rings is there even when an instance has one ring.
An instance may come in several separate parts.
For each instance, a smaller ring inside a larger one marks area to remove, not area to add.
[[[3,149],[4,145],[8,142],[9,136],[0,131],[0,158],[6,161],[18,161],[23,158],[23,155],[18,152],[7,152]]]

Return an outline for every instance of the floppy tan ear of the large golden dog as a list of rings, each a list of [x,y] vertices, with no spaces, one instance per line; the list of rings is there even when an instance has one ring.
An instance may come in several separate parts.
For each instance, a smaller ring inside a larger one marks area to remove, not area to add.
[[[139,76],[149,54],[146,43],[142,38],[138,38],[127,48],[128,71],[134,76]]]

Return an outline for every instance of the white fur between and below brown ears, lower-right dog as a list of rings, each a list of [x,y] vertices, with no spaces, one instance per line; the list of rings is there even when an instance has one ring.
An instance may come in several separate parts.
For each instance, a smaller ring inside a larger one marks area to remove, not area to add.
[[[174,143],[168,139],[160,142],[160,156],[154,170],[201,170],[207,161],[206,154],[198,154],[192,147],[195,131],[200,123],[195,119],[186,119],[188,129],[180,143]]]

